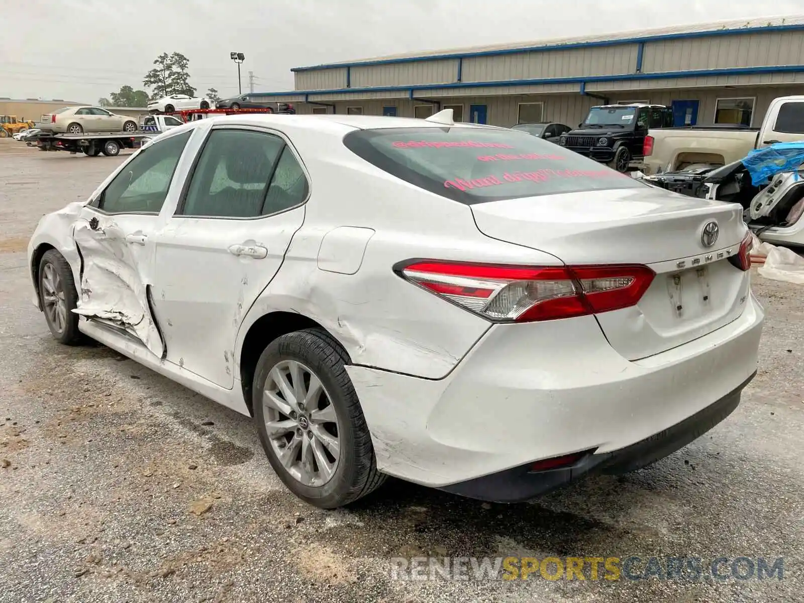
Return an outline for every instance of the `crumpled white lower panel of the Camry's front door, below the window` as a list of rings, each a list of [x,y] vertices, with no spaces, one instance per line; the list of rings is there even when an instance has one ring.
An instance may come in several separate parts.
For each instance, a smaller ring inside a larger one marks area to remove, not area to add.
[[[162,358],[162,335],[149,301],[154,245],[148,237],[157,219],[81,210],[73,228],[82,260],[75,311],[125,330]]]

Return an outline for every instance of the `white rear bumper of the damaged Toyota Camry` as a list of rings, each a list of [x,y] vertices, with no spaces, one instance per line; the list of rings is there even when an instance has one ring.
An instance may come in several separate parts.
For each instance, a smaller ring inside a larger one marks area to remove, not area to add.
[[[600,455],[663,440],[720,400],[739,400],[757,370],[763,319],[750,296],[735,321],[637,361],[619,355],[593,317],[497,325],[444,379],[347,371],[379,470],[459,491],[461,482],[580,451],[594,451],[585,462],[597,466]],[[656,458],[687,443],[669,437],[650,451]]]

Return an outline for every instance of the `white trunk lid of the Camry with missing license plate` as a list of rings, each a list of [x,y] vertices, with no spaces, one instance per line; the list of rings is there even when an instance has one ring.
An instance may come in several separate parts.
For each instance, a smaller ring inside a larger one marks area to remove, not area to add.
[[[654,187],[507,199],[471,206],[486,236],[536,248],[567,265],[640,264],[656,273],[636,306],[596,314],[609,343],[641,359],[732,322],[749,273],[728,260],[745,236],[742,207]],[[716,242],[704,245],[715,222]]]

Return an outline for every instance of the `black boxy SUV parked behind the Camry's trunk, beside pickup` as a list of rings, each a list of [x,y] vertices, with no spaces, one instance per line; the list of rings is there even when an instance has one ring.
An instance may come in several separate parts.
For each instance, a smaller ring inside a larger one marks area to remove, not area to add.
[[[606,163],[618,172],[642,158],[648,128],[673,125],[673,110],[664,105],[601,105],[589,109],[578,129],[564,134],[559,145]]]

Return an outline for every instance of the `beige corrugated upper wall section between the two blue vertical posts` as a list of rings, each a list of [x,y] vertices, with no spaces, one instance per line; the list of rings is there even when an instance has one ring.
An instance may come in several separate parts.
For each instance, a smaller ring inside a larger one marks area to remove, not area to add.
[[[633,72],[636,64],[637,44],[478,56],[463,59],[461,81],[608,76]]]

